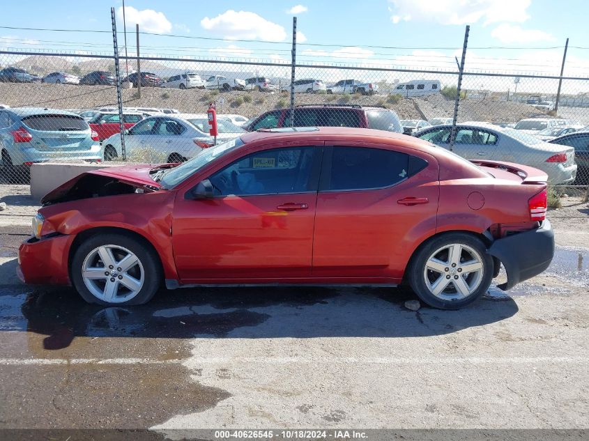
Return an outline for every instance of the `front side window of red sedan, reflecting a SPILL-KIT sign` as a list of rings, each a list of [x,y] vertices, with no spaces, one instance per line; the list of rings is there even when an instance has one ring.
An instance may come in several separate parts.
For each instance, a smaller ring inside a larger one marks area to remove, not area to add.
[[[252,153],[208,179],[215,196],[252,196],[314,191],[314,147],[274,148]]]

